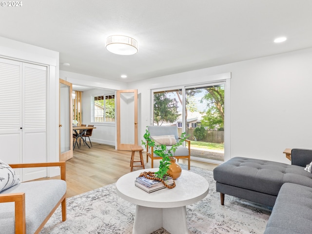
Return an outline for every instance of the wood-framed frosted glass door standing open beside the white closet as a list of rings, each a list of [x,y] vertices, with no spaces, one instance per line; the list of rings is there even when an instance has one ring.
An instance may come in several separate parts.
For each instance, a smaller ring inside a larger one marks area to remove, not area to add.
[[[73,157],[73,86],[59,79],[59,161]]]

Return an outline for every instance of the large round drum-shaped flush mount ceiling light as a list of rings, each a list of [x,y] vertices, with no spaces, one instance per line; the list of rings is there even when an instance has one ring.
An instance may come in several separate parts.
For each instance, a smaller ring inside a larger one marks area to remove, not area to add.
[[[106,49],[117,55],[134,55],[137,53],[137,41],[126,36],[110,36],[106,39]]]

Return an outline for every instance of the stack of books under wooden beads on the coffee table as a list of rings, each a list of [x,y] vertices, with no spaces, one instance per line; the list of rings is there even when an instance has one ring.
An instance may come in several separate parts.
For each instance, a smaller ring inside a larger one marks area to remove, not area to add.
[[[165,183],[167,185],[173,185],[174,180],[172,177],[167,176]],[[135,185],[147,193],[152,193],[157,190],[166,188],[166,186],[162,182],[158,180],[148,179],[144,176],[137,177],[137,179],[135,180]]]

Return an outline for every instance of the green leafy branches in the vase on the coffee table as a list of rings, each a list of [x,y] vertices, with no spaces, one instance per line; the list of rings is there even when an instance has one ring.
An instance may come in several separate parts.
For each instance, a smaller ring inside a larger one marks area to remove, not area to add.
[[[166,145],[156,144],[157,141],[151,137],[148,129],[145,130],[144,134],[145,141],[142,140],[142,145],[144,145],[145,148],[146,145],[148,145],[149,147],[153,146],[154,153],[157,156],[162,157],[162,159],[159,162],[159,170],[155,173],[156,177],[162,179],[166,178],[167,171],[169,170],[169,165],[171,165],[170,157],[175,155],[177,147],[182,145],[183,142],[187,139],[188,136],[185,135],[186,135],[185,133],[182,133],[179,141],[177,141],[176,144],[173,144],[171,148],[168,149]]]

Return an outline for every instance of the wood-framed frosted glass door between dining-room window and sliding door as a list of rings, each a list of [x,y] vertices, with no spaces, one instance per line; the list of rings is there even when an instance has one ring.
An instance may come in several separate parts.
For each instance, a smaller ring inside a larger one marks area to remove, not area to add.
[[[116,93],[117,150],[131,150],[137,145],[137,89]]]

